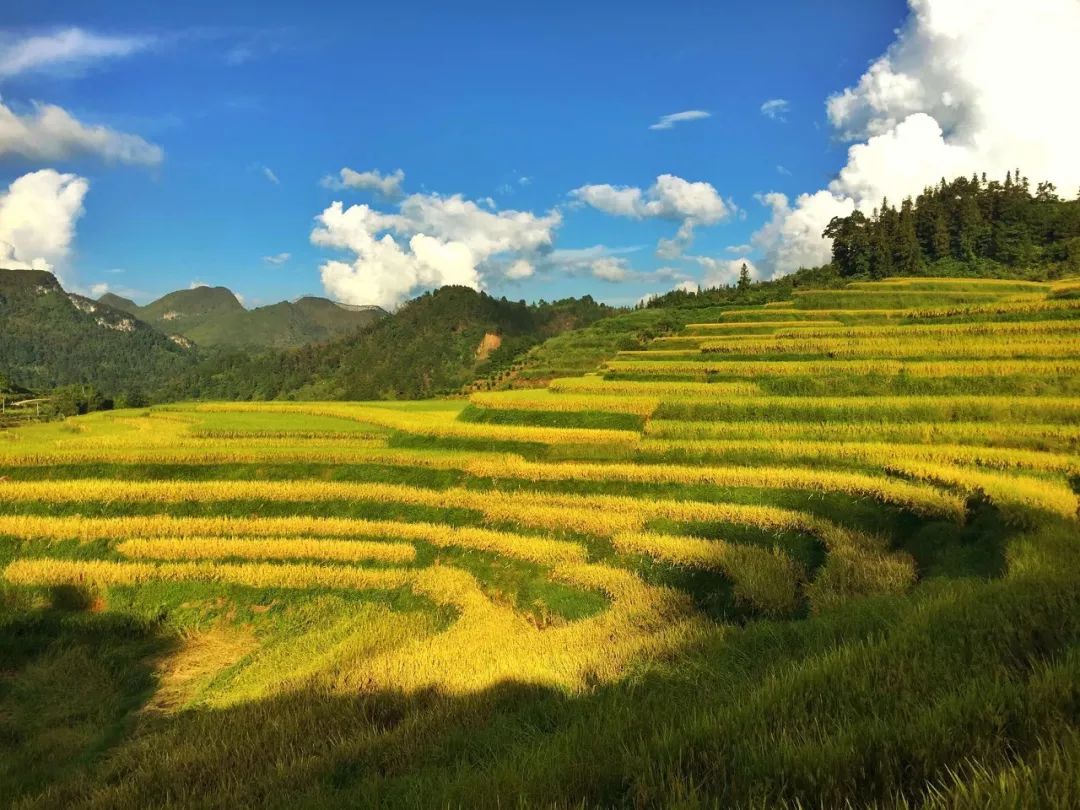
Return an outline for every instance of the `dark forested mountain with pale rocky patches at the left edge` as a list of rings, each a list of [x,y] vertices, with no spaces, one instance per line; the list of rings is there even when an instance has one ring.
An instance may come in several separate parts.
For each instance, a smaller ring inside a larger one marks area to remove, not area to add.
[[[107,397],[156,390],[194,365],[184,343],[65,292],[50,272],[0,269],[0,377],[14,386],[92,384]]]

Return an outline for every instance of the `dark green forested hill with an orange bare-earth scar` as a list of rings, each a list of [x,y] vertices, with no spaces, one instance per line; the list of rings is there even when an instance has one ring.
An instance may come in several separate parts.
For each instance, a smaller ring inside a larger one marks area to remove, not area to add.
[[[591,297],[527,305],[447,286],[354,335],[257,357],[229,354],[178,381],[221,399],[419,399],[460,390],[522,352],[615,310]]]

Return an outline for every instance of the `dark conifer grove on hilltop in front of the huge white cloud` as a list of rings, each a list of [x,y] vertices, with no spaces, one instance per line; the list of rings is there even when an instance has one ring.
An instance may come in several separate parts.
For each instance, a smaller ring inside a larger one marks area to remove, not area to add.
[[[943,178],[899,208],[883,200],[870,216],[835,217],[823,235],[833,240],[833,265],[843,278],[1036,267],[1075,272],[1080,200],[1063,201],[1051,183],[1032,193],[1018,170],[1003,183],[986,175]]]

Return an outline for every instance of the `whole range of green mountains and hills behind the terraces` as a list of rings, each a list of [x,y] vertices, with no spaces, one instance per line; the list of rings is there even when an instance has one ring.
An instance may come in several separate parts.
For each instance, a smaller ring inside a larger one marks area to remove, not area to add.
[[[612,312],[589,296],[527,305],[458,286],[393,314],[315,297],[248,310],[225,287],[140,307],[67,293],[40,270],[0,269],[0,389],[84,384],[120,403],[416,399],[499,374]]]

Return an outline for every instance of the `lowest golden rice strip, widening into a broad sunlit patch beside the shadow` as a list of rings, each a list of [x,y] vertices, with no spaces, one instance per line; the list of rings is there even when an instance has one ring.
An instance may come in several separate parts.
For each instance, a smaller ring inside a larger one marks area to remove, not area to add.
[[[670,652],[704,630],[684,595],[647,585],[629,571],[567,564],[554,573],[575,586],[604,591],[611,598],[609,609],[540,631],[513,609],[490,602],[472,576],[447,566],[364,570],[318,565],[27,559],[4,570],[9,582],[35,585],[201,581],[285,589],[410,588],[459,611],[457,621],[445,632],[394,647],[342,673],[339,686],[352,691],[438,688],[449,694],[467,694],[510,679],[580,691],[597,680],[619,677],[630,660]],[[463,661],[467,666],[461,665]]]

